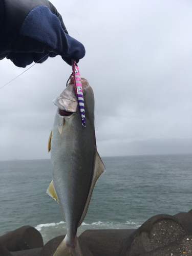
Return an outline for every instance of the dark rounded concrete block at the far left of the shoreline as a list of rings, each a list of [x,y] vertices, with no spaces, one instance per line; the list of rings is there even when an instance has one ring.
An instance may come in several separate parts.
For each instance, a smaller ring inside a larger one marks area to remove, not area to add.
[[[9,251],[20,251],[44,246],[40,232],[31,226],[23,226],[5,233],[0,237],[0,243]]]

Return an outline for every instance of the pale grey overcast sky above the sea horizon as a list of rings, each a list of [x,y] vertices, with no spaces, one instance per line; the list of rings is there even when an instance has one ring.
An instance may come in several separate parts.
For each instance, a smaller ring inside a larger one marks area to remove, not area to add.
[[[100,156],[192,153],[192,2],[52,0],[86,56]],[[29,68],[28,66],[27,68]],[[24,72],[0,61],[0,87]],[[72,70],[60,56],[0,90],[0,161],[49,159],[53,104]]]

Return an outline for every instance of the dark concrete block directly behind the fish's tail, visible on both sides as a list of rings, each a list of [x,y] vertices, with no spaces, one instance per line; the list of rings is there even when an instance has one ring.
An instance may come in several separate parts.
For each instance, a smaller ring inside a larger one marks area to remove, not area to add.
[[[41,249],[38,256],[53,256],[54,252],[56,251],[59,244],[62,242],[62,240],[65,238],[65,236],[59,236],[56,238],[53,238],[50,240],[45,246]],[[83,256],[93,256],[93,254],[90,252],[89,248],[86,244],[84,244],[84,241],[79,237],[78,238],[79,245],[81,248],[81,252]]]

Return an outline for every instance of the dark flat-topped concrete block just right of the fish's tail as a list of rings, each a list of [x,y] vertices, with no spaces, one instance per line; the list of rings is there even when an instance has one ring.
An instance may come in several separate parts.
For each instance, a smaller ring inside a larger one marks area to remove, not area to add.
[[[124,241],[135,229],[86,230],[80,236],[94,256],[119,255]],[[84,256],[84,255],[83,255]]]

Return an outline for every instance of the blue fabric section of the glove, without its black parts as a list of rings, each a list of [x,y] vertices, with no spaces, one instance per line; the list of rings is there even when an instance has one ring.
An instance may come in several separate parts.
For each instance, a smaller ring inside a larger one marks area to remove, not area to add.
[[[42,20],[44,20],[43,23]],[[78,60],[83,58],[86,53],[84,46],[79,41],[64,32],[59,18],[46,6],[37,6],[32,9],[24,20],[19,33],[41,42],[45,46],[45,50],[67,58]]]

